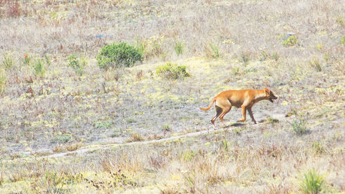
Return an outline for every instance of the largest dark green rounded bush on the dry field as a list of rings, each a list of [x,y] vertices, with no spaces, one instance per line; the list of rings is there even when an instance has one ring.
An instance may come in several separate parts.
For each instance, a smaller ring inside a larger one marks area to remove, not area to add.
[[[142,60],[142,53],[137,48],[123,42],[108,44],[97,55],[97,64],[103,69],[129,67]]]

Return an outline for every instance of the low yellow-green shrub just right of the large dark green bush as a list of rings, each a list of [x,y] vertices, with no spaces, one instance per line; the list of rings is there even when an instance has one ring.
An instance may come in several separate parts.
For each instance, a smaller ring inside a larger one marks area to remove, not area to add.
[[[158,66],[156,69],[156,74],[167,79],[178,79],[190,76],[190,74],[186,71],[186,66],[178,66],[177,64],[172,63]]]

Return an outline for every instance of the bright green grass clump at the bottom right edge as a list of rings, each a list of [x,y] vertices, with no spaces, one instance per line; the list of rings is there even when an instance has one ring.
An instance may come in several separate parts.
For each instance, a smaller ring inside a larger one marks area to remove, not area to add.
[[[322,191],[324,186],[324,177],[315,170],[304,173],[304,179],[300,184],[301,190],[306,194],[317,194]]]

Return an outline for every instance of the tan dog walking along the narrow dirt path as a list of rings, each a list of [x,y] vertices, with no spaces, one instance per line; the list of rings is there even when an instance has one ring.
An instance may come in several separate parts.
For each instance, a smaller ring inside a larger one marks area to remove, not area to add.
[[[273,102],[273,99],[277,99],[273,92],[268,88],[264,88],[264,90],[227,90],[224,92],[219,93],[213,100],[210,102],[207,108],[201,108],[201,110],[208,110],[211,108],[212,104],[215,106],[215,116],[212,117],[211,123],[215,126],[215,119],[219,117],[221,122],[223,122],[224,126],[224,116],[231,110],[232,106],[237,108],[242,108],[242,115],[243,118],[237,122],[244,122],[246,121],[246,113],[247,110],[249,112],[252,121],[257,124],[253,117],[252,107],[258,101],[262,101],[264,99]]]

